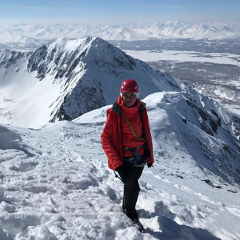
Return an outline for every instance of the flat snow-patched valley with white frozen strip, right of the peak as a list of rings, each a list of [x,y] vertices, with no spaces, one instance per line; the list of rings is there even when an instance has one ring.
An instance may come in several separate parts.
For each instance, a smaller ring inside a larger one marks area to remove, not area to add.
[[[170,73],[240,114],[239,39],[112,41],[130,56]]]

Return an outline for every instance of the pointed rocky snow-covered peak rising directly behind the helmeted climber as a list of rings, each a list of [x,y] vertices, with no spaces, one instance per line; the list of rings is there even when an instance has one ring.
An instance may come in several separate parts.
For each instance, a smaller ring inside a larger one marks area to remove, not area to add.
[[[3,50],[0,121],[38,128],[49,121],[74,119],[113,103],[127,78],[138,80],[141,97],[181,90],[170,75],[154,71],[100,38],[61,39],[24,53]]]

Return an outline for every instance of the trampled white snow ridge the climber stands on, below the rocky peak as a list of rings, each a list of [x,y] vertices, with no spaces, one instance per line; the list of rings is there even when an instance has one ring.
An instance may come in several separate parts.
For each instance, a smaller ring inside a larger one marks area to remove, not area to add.
[[[0,239],[239,240],[239,175],[224,167],[240,169],[239,151],[216,161],[224,132],[202,131],[182,93],[143,101],[155,157],[137,203],[146,233],[122,213],[123,185],[101,147],[109,105],[38,130],[0,126]]]

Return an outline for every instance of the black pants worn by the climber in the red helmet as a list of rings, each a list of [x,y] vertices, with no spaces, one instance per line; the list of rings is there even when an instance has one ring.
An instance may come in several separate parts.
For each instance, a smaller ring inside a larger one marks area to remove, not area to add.
[[[130,177],[124,183],[123,210],[129,218],[133,219],[138,217],[135,207],[140,191],[138,179],[142,175],[143,167],[133,167],[131,164],[127,164],[126,167]]]

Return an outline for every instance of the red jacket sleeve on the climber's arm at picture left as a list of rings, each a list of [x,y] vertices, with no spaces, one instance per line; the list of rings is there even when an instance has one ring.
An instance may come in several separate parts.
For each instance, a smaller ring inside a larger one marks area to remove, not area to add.
[[[122,165],[120,156],[117,154],[113,147],[113,113],[110,110],[107,111],[107,121],[101,135],[101,142],[104,152],[108,157],[108,166],[110,169],[116,169]]]

